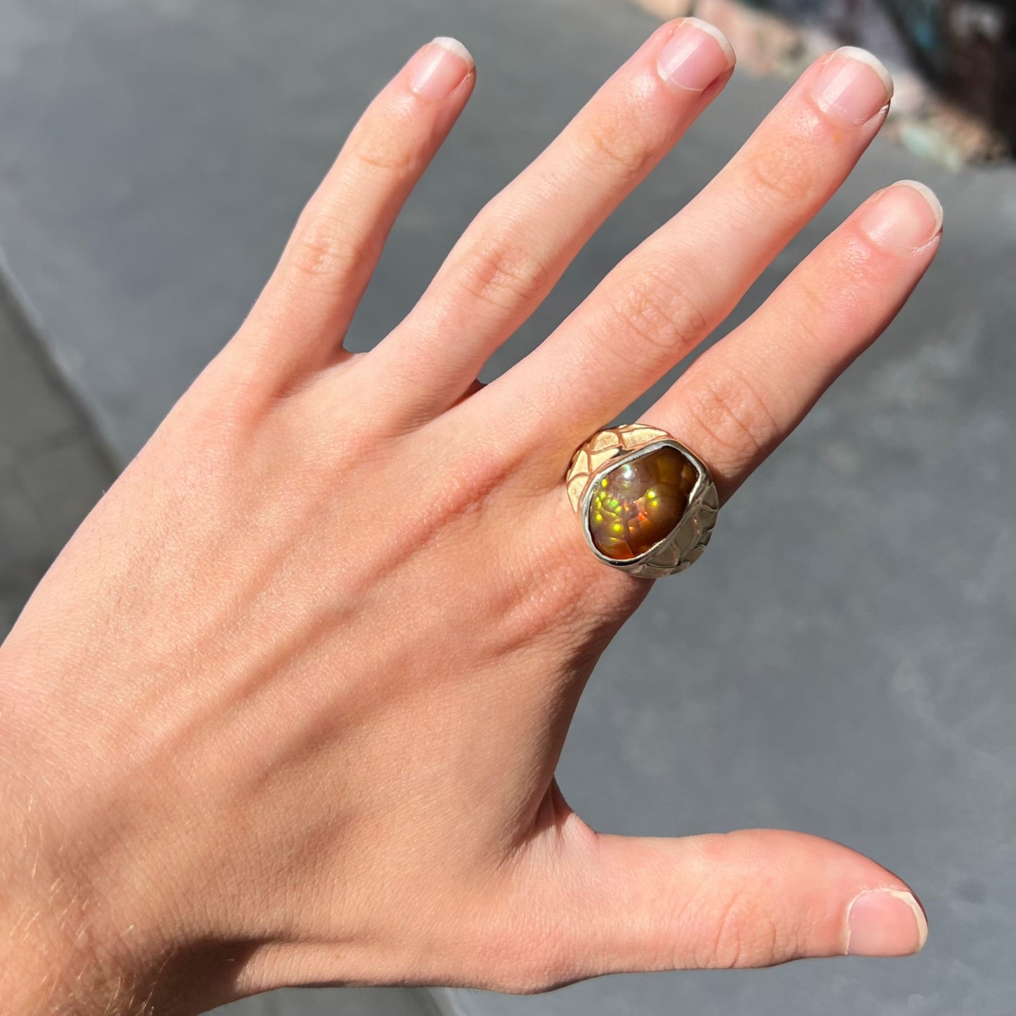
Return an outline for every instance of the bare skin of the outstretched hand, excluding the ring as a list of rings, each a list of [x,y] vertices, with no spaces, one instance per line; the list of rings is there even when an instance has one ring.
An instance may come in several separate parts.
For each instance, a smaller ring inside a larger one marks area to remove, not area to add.
[[[436,94],[430,44],[353,131],[248,320],[0,648],[0,1012],[194,1013],[284,985],[534,992],[920,947],[906,885],[845,846],[607,834],[554,782],[586,679],[651,584],[588,552],[570,456],[719,324],[885,114],[824,107],[819,61],[481,386],[729,77],[664,80],[681,29],[653,34],[362,355],[344,331],[474,72],[443,65]],[[940,221],[919,188],[873,196],[642,422],[726,501],[892,319]]]

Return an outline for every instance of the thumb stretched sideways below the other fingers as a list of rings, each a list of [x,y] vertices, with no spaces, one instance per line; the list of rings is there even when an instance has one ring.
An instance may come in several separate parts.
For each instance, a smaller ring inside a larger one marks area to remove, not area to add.
[[[572,814],[556,848],[541,854],[537,867],[556,870],[546,893],[529,899],[541,924],[555,926],[562,969],[550,979],[558,982],[845,953],[903,956],[928,936],[924,909],[895,875],[805,833],[633,838],[595,833]]]

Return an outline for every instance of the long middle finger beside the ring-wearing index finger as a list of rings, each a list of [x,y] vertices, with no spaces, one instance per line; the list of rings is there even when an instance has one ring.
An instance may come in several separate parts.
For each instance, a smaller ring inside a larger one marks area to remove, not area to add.
[[[890,91],[863,51],[816,62],[715,179],[485,399],[514,419],[546,420],[552,406],[569,448],[601,427],[694,348],[822,207],[878,131]],[[544,440],[543,427],[533,436]]]

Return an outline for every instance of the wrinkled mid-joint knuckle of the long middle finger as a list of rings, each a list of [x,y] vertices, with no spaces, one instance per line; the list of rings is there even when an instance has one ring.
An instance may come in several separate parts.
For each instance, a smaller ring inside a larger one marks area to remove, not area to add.
[[[654,272],[632,275],[614,307],[630,337],[653,359],[663,354],[680,360],[709,331],[709,319],[688,288]]]

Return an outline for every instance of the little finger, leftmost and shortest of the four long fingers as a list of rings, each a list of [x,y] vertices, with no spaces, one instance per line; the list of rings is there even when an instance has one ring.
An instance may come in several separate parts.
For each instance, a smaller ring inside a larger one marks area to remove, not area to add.
[[[333,360],[395,216],[475,82],[453,39],[419,50],[371,103],[308,202],[252,313],[245,354],[276,378]]]

